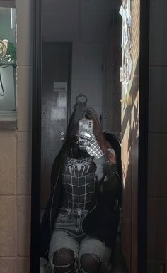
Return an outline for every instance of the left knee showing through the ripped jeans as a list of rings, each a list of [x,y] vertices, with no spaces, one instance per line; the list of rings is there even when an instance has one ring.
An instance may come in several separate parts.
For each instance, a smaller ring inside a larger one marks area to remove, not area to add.
[[[54,252],[52,262],[55,267],[55,272],[73,272],[74,259],[74,252],[72,250],[62,248]]]

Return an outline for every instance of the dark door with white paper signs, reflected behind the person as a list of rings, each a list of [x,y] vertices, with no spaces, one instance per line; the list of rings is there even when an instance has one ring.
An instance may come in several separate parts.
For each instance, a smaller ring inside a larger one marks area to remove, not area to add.
[[[71,44],[42,44],[41,208],[50,195],[50,174],[71,112]]]

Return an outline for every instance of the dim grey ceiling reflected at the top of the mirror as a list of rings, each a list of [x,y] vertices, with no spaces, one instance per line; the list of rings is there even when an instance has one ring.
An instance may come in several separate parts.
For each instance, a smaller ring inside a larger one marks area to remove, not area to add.
[[[42,0],[42,38],[52,42],[102,42],[121,0]]]

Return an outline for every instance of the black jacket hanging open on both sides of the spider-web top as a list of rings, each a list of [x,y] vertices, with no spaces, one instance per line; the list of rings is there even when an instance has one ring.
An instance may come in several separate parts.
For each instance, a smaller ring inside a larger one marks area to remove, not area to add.
[[[86,234],[100,239],[105,245],[113,247],[119,222],[119,210],[115,204],[120,198],[120,176],[116,164],[110,165],[105,156],[93,161],[97,166],[95,176],[98,201],[93,210],[86,215],[83,230]],[[54,222],[62,203],[62,165],[61,156],[57,156],[52,166],[51,195],[40,227],[40,256],[45,258],[47,258]]]

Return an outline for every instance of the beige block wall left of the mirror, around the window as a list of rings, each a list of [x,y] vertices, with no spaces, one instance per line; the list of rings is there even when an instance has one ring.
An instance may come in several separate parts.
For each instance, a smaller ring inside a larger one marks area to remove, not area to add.
[[[30,273],[31,0],[16,0],[18,126],[0,130],[0,272]]]

